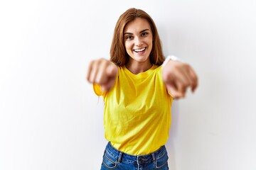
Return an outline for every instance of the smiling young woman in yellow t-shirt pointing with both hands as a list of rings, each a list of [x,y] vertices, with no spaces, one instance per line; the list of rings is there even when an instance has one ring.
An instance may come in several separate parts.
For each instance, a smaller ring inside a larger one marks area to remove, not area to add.
[[[164,63],[164,64],[163,64]],[[117,21],[110,60],[90,62],[87,80],[105,102],[108,141],[101,169],[169,169],[164,147],[171,102],[196,89],[198,78],[182,62],[165,60],[152,18],[129,8]]]

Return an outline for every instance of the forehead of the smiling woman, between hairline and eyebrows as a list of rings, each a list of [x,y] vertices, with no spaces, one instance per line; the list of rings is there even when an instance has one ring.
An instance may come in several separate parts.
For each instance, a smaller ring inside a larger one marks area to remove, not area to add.
[[[151,30],[149,21],[144,18],[135,18],[134,21],[127,23],[127,25],[124,27],[124,33],[139,32],[145,29]]]

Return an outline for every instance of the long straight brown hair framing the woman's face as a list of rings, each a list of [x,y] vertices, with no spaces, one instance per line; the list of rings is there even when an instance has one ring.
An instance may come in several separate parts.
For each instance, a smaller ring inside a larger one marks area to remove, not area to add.
[[[129,60],[124,46],[124,27],[127,23],[134,21],[135,18],[144,18],[149,22],[153,33],[153,45],[149,55],[151,64],[161,65],[164,62],[164,55],[161,48],[161,40],[156,29],[153,19],[145,11],[137,8],[129,8],[119,16],[117,24],[114,28],[112,45],[110,47],[110,60],[117,66],[123,66]]]

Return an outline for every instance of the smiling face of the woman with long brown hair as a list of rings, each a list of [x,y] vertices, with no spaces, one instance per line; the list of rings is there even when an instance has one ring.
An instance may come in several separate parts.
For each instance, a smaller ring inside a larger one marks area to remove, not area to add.
[[[152,44],[153,34],[146,19],[136,18],[125,26],[124,46],[129,55],[128,62],[150,64],[149,55]]]

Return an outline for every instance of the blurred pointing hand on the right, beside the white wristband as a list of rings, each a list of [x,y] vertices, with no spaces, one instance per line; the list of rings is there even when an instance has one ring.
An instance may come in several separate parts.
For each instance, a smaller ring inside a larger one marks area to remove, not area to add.
[[[166,88],[174,99],[185,97],[188,87],[195,91],[198,86],[196,72],[189,64],[169,60],[162,68],[162,73]]]

